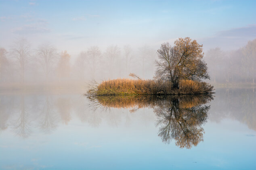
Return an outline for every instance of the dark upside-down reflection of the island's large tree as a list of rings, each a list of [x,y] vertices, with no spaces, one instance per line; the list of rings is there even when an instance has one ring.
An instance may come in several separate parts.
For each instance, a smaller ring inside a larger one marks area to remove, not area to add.
[[[208,119],[210,106],[181,107],[178,98],[162,101],[154,111],[158,117],[158,135],[165,143],[175,139],[179,147],[191,148],[203,141],[202,123]]]

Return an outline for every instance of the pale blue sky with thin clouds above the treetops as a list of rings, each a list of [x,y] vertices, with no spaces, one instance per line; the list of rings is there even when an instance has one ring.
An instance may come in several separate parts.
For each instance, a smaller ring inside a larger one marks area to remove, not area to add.
[[[0,47],[26,38],[80,53],[92,45],[133,47],[191,37],[204,50],[256,38],[255,0],[0,0]]]

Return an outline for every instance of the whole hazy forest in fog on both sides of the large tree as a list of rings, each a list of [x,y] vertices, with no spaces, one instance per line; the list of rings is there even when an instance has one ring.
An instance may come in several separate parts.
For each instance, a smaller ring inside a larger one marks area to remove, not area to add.
[[[86,86],[91,80],[127,78],[130,72],[149,79],[154,74],[157,48],[95,45],[73,56],[50,43],[32,48],[27,39],[16,39],[10,47],[0,47],[0,86]],[[209,49],[203,59],[211,83],[255,83],[256,39],[232,51]]]

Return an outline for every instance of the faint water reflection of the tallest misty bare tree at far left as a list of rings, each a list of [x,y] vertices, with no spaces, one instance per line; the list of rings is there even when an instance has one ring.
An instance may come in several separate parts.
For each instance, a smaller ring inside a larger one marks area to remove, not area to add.
[[[30,135],[30,121],[25,108],[24,94],[21,97],[20,105],[20,115],[15,123],[15,131],[17,134],[23,138],[26,138]]]

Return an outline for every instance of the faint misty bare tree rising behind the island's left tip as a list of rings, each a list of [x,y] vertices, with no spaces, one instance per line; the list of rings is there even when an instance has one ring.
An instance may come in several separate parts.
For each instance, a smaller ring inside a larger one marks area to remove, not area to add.
[[[87,59],[88,62],[91,63],[91,70],[92,70],[92,77],[94,78],[95,76],[95,70],[96,70],[96,62],[101,56],[101,50],[99,49],[98,46],[92,46],[88,49],[87,51]]]

